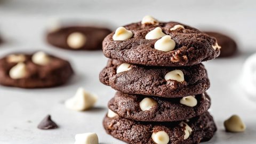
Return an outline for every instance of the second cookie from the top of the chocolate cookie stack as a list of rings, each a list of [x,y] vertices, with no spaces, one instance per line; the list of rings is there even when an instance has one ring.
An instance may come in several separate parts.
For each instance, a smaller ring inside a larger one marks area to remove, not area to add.
[[[204,93],[210,82],[200,63],[187,67],[152,67],[108,60],[100,81],[124,93],[174,98]]]

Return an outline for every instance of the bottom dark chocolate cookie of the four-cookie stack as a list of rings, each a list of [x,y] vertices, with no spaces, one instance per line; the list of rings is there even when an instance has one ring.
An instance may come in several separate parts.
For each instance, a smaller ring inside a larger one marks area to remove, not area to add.
[[[108,134],[127,143],[199,143],[213,137],[217,127],[212,116],[202,115],[182,122],[148,123],[115,116],[105,117]]]

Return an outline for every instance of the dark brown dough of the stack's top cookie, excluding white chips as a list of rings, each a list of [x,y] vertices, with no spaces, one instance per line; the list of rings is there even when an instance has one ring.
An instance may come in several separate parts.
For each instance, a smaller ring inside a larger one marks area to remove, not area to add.
[[[170,30],[175,25],[179,28]],[[102,43],[103,53],[107,58],[127,63],[149,66],[191,66],[218,57],[220,50],[214,50],[216,39],[201,31],[178,22],[159,22],[158,25],[142,25],[141,22],[124,26],[131,30],[133,37],[124,41],[114,41],[114,32],[109,34]],[[154,49],[158,39],[145,39],[146,34],[156,27],[170,35],[176,43],[175,49],[163,52]]]

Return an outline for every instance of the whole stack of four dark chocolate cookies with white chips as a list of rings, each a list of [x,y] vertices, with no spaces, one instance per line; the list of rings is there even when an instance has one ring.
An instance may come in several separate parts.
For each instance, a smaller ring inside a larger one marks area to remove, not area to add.
[[[215,38],[178,22],[146,16],[103,41],[100,81],[117,90],[103,120],[127,143],[199,143],[217,127],[207,111],[210,87],[202,61],[218,57]]]

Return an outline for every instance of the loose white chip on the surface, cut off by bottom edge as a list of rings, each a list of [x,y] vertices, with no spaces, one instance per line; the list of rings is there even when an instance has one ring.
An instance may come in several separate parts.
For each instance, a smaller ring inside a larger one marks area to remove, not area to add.
[[[75,136],[75,144],[99,144],[99,138],[96,133],[79,133]]]

